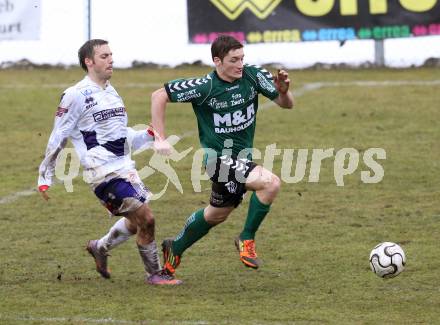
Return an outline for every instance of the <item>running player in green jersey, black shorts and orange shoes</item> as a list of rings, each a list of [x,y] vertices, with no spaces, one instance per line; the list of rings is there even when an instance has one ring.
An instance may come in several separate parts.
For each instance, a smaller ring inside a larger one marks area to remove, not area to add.
[[[252,162],[252,147],[258,111],[258,94],[282,108],[293,107],[290,80],[284,70],[272,75],[265,69],[243,64],[243,45],[231,36],[221,35],[211,45],[215,70],[193,79],[165,84],[152,95],[152,126],[155,149],[168,154],[165,140],[165,109],[168,102],[191,102],[197,117],[205,166],[212,181],[209,205],[195,211],[174,239],[162,243],[164,269],[173,275],[183,252],[226,220],[252,191],[248,215],[235,245],[244,265],[258,268],[255,233],[269,212],[279,189],[280,179]]]

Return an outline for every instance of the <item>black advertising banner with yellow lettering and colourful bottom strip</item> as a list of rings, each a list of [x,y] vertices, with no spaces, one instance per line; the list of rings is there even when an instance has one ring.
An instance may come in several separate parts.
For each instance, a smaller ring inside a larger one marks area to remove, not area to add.
[[[229,34],[246,43],[440,35],[440,0],[187,0],[190,43]]]

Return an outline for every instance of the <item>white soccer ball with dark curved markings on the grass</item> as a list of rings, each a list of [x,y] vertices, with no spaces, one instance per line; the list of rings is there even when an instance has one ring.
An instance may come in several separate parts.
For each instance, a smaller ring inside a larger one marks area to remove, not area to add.
[[[394,278],[405,268],[406,257],[402,247],[395,243],[380,243],[370,253],[371,270],[381,278]]]

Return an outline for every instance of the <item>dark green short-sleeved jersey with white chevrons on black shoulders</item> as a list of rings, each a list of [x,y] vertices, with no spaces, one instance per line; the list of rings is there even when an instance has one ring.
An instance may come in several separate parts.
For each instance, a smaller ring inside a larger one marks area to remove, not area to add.
[[[205,150],[211,148],[221,156],[232,140],[232,155],[248,159],[252,158],[258,94],[270,100],[279,95],[270,72],[252,65],[245,65],[242,78],[232,83],[213,71],[201,78],[170,81],[165,89],[171,102],[192,103]]]

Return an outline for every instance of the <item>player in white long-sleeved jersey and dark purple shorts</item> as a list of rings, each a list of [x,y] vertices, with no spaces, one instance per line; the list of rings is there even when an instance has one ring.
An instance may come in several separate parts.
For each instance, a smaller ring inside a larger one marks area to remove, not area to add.
[[[137,234],[136,243],[147,273],[146,283],[175,285],[181,281],[162,271],[154,238],[154,216],[144,186],[130,157],[130,147],[139,149],[154,142],[152,131],[127,127],[124,102],[109,80],[113,57],[108,42],[87,41],[78,51],[87,76],[68,88],[61,97],[46,156],[39,168],[38,188],[44,199],[52,185],[58,154],[70,139],[84,168],[84,179],[110,211],[122,216],[99,240],[91,240],[87,251],[96,270],[110,278],[108,251]]]

